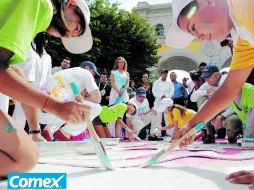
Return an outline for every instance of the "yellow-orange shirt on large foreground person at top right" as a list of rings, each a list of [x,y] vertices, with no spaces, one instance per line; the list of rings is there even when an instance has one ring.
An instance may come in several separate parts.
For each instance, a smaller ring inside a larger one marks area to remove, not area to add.
[[[254,65],[254,0],[228,0],[238,39],[234,45],[231,70]]]

